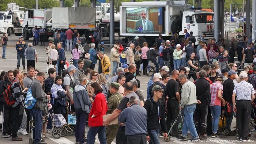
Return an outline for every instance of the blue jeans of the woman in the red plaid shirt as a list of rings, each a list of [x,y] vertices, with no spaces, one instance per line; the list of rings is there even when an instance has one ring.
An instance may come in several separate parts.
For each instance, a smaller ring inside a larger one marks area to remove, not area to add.
[[[212,132],[217,133],[219,126],[219,116],[221,115],[221,106],[210,106],[212,114]]]

